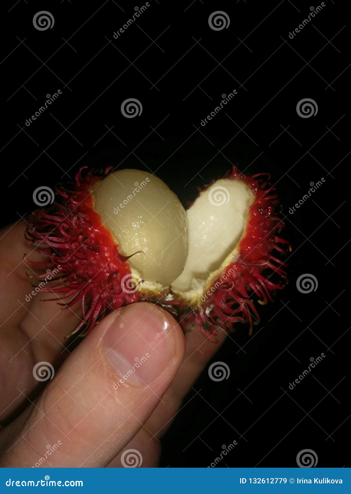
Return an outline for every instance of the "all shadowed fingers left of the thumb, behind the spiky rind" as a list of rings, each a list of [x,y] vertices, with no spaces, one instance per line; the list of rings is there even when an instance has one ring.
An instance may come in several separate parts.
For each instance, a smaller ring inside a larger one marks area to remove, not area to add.
[[[38,273],[23,262],[23,255],[36,262],[46,259],[25,240],[26,226],[21,220],[0,231],[0,422],[25,406],[21,391],[33,393],[41,384],[32,373],[38,362],[56,367],[66,357],[64,336],[82,317],[80,306],[61,311],[55,302],[40,301],[50,294],[31,286],[26,272],[32,277]]]

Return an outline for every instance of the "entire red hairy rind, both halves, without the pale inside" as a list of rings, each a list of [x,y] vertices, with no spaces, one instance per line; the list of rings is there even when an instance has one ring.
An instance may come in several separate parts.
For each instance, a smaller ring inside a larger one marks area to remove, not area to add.
[[[46,269],[46,274],[36,277],[38,280],[52,273],[51,280],[58,282],[41,288],[43,292],[54,294],[46,300],[63,302],[62,309],[78,301],[82,304],[83,320],[71,334],[81,329],[82,334],[87,334],[112,310],[145,300],[139,292],[140,286],[132,279],[127,262],[131,256],[119,252],[110,230],[101,224],[100,215],[93,209],[91,192],[112,167],[84,175],[86,168],[79,170],[70,188],[56,188],[56,201],[51,206],[33,212],[31,226],[25,232],[26,239],[47,258],[46,262],[25,259],[26,263]],[[260,304],[272,300],[271,292],[284,285],[273,283],[271,275],[275,273],[285,278],[286,273],[285,264],[271,252],[275,249],[284,253],[283,247],[291,250],[289,243],[277,236],[284,223],[274,213],[278,201],[275,188],[269,183],[270,176],[264,173],[246,176],[233,166],[224,178],[242,180],[255,194],[245,237],[238,246],[238,259],[226,266],[210,290],[203,294],[202,306],[184,307],[172,295],[150,300],[175,315],[184,331],[196,327],[212,342],[217,342],[219,329],[233,330],[233,324],[238,322],[249,323],[252,333],[253,325],[258,324],[260,318],[249,294],[255,293]]]

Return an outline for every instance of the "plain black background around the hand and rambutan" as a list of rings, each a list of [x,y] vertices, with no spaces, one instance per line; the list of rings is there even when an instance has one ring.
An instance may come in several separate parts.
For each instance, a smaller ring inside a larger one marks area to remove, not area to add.
[[[286,217],[290,284],[260,307],[253,336],[240,326],[189,393],[163,440],[162,466],[296,466],[305,449],[318,466],[344,466],[350,411],[348,242],[350,53],[340,2],[299,0],[150,0],[116,40],[113,33],[143,3],[114,0],[2,2],[2,224],[31,211],[33,191],[69,180],[79,166],[137,167],[155,173],[184,206],[237,164],[267,171]],[[33,16],[49,10],[52,29]],[[209,26],[223,10],[227,29]],[[33,122],[47,94],[62,94]],[[205,126],[222,94],[237,94]],[[141,115],[121,104],[136,98]],[[313,99],[318,112],[297,113]],[[293,214],[289,208],[325,182]],[[344,218],[344,219],[342,219]],[[302,293],[297,279],[318,287]],[[325,357],[294,390],[310,359]],[[348,391],[349,390],[349,391]]]

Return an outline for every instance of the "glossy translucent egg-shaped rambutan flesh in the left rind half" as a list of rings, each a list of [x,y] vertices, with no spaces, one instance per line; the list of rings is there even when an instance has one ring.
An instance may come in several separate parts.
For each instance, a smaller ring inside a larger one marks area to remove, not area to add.
[[[120,170],[93,191],[95,210],[123,255],[148,283],[166,287],[183,271],[188,254],[186,212],[177,196],[155,175]]]

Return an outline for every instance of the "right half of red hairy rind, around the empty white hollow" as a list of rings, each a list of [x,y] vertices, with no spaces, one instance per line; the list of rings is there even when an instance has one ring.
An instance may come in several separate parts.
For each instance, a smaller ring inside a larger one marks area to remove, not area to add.
[[[179,306],[178,309],[180,324],[184,330],[195,325],[214,343],[217,342],[216,335],[220,328],[231,331],[233,324],[238,322],[249,323],[252,334],[253,325],[260,322],[260,316],[249,294],[255,293],[259,303],[264,305],[272,300],[271,292],[284,288],[281,282],[273,283],[270,280],[274,273],[286,278],[282,267],[286,264],[271,252],[275,249],[285,253],[282,246],[291,251],[289,242],[277,236],[284,227],[284,222],[274,213],[278,200],[274,194],[275,187],[271,187],[269,182],[270,175],[258,173],[247,176],[239,173],[233,166],[224,178],[243,181],[256,196],[250,207],[245,237],[238,245],[239,257],[222,270],[210,290],[203,294],[201,307],[192,309]],[[214,182],[213,180],[209,186]]]

